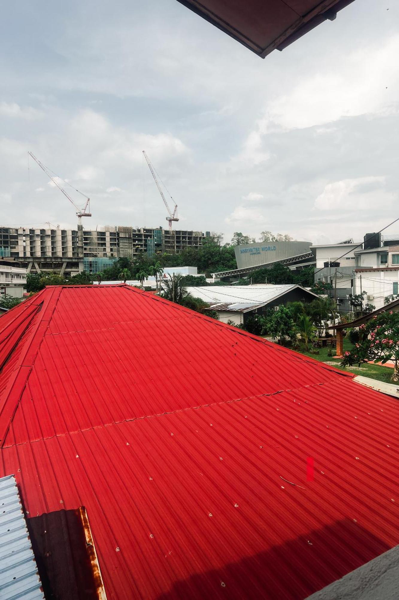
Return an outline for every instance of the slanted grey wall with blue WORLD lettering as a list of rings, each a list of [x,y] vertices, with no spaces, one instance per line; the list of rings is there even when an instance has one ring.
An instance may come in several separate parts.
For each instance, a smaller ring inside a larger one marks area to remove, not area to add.
[[[259,242],[234,248],[237,268],[266,265],[310,251],[311,242]]]

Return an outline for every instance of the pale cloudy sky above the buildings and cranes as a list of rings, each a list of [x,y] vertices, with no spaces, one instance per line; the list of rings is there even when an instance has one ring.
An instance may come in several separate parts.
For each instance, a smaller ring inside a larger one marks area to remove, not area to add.
[[[167,225],[143,149],[179,226],[225,241],[399,216],[396,0],[355,0],[264,60],[176,0],[14,0],[0,29],[0,225],[76,224],[28,150],[90,196],[87,229]]]

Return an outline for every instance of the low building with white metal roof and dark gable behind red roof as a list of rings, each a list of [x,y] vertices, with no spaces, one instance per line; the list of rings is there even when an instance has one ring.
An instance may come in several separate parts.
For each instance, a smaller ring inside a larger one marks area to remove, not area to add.
[[[251,314],[262,314],[287,302],[312,302],[319,297],[298,285],[198,286],[186,290],[194,298],[208,302],[220,321],[232,321],[235,325],[244,324]]]

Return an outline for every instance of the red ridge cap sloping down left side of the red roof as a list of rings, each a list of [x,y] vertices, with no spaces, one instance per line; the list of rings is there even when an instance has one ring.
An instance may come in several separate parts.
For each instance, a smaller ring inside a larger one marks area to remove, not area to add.
[[[43,341],[44,333],[54,314],[62,287],[50,286],[45,288],[45,290],[49,290],[49,293],[41,294],[44,296],[43,301],[38,304],[37,310],[32,314],[33,319],[43,310],[43,317],[42,319],[38,319],[38,322],[32,328],[31,334],[26,339],[20,356],[19,366],[14,370],[13,376],[10,377],[5,388],[4,400],[2,401],[2,406],[0,406],[0,448],[4,445],[5,437],[10,429],[23,389],[25,389],[40,344]]]

